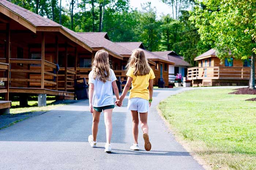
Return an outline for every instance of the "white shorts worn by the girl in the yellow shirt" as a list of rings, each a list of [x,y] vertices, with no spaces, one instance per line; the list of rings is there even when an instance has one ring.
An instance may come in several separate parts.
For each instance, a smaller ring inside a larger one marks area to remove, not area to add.
[[[148,100],[142,98],[131,98],[128,100],[128,110],[136,110],[139,113],[148,112]]]

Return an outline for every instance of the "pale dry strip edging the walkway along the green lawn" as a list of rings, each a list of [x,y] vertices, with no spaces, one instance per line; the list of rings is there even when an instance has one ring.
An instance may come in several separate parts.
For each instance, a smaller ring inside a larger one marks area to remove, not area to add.
[[[190,91],[190,90],[194,90],[194,89],[184,90],[184,91],[178,92],[177,94],[185,92],[185,91]],[[177,94],[175,94],[175,95],[177,95]],[[163,100],[166,100],[166,99],[163,99]],[[159,104],[163,100],[161,100],[159,102]],[[185,141],[185,140],[181,139],[180,137],[178,137],[177,133],[173,130],[173,127],[170,125],[170,123],[163,117],[162,111],[158,107],[159,104],[157,105],[158,115],[161,117],[161,119],[165,123],[167,129],[169,130],[169,133],[173,135],[174,140],[176,142],[178,142],[193,157],[193,159],[195,159],[195,161],[197,163],[199,163],[199,165],[201,165],[205,170],[212,170],[210,165],[208,165],[207,162],[203,158],[201,158],[199,155],[197,155],[196,153],[193,152],[193,150],[189,147],[189,144],[187,144],[188,143],[187,141]]]

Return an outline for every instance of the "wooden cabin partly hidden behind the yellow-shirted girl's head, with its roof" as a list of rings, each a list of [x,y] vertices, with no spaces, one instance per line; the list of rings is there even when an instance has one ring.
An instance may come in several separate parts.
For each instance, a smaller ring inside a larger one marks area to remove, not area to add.
[[[165,82],[165,86],[168,86],[169,82],[169,65],[173,65],[174,62],[166,59],[160,55],[157,55],[153,52],[146,50],[142,42],[117,42],[116,44],[127,48],[132,51],[136,48],[140,48],[145,52],[146,58],[155,62],[155,65],[150,64],[152,70],[155,73],[154,86],[158,85],[158,79],[162,78]]]

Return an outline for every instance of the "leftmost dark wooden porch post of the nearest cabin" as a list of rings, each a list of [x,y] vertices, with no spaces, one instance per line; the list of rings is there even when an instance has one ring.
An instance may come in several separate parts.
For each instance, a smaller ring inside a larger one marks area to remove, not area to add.
[[[5,93],[5,100],[9,100],[9,86],[10,86],[10,36],[11,36],[11,29],[10,29],[10,24],[6,24],[6,63],[9,64],[8,65],[8,69],[5,71],[7,72],[7,82],[5,82],[5,88],[7,90],[7,92]]]

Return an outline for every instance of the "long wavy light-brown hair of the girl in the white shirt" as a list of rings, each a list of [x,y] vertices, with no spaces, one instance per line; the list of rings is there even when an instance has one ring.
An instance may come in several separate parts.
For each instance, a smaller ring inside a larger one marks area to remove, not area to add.
[[[92,63],[93,79],[98,79],[103,83],[110,81],[109,54],[105,50],[96,52]]]

